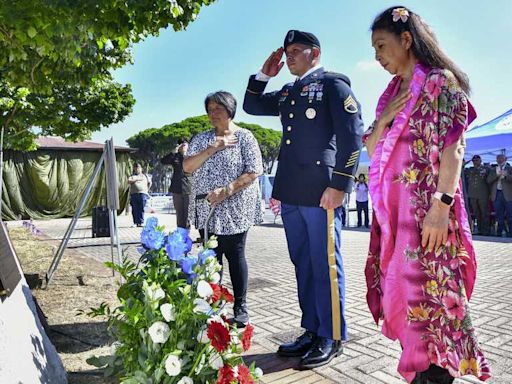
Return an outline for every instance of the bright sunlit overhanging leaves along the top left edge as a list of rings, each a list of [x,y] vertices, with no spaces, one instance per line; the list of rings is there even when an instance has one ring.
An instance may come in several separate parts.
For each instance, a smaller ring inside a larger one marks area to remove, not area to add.
[[[1,77],[49,92],[130,62],[133,43],[184,29],[213,0],[10,0],[0,5]]]

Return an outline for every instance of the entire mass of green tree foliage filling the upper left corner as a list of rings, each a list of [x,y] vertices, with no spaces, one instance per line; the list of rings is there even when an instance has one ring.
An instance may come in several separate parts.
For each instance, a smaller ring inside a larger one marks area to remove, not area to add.
[[[10,0],[0,3],[0,124],[7,147],[38,134],[88,138],[132,110],[111,70],[161,28],[184,29],[214,0]]]

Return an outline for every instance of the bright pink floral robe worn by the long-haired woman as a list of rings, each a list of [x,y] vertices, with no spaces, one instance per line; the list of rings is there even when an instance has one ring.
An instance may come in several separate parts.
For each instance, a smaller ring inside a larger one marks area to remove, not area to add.
[[[395,77],[379,100],[377,117],[399,87]],[[476,261],[460,184],[450,209],[447,244],[433,252],[421,246],[443,149],[460,139],[476,114],[447,70],[417,64],[411,93],[371,159],[368,305],[375,321],[383,320],[382,333],[400,340],[398,371],[408,382],[430,364],[454,377],[471,374],[486,380],[490,370],[468,308]]]

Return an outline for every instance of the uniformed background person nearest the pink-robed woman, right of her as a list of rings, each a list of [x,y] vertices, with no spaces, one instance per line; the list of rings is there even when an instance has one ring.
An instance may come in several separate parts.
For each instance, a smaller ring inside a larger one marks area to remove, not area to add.
[[[471,161],[473,166],[466,168],[465,174],[469,203],[478,226],[478,231],[475,232],[478,235],[489,236],[489,186],[487,185],[489,169],[482,164],[482,158],[479,155],[474,155]]]

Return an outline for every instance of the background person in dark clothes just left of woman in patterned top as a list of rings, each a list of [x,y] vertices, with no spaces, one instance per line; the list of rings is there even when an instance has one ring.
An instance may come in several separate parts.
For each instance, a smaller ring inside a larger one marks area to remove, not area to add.
[[[173,173],[169,192],[172,194],[174,209],[176,210],[176,225],[181,228],[190,228],[188,219],[188,206],[190,201],[190,190],[192,175],[183,171],[183,159],[187,155],[188,141],[180,140],[174,152],[164,156],[160,162],[172,165]]]

